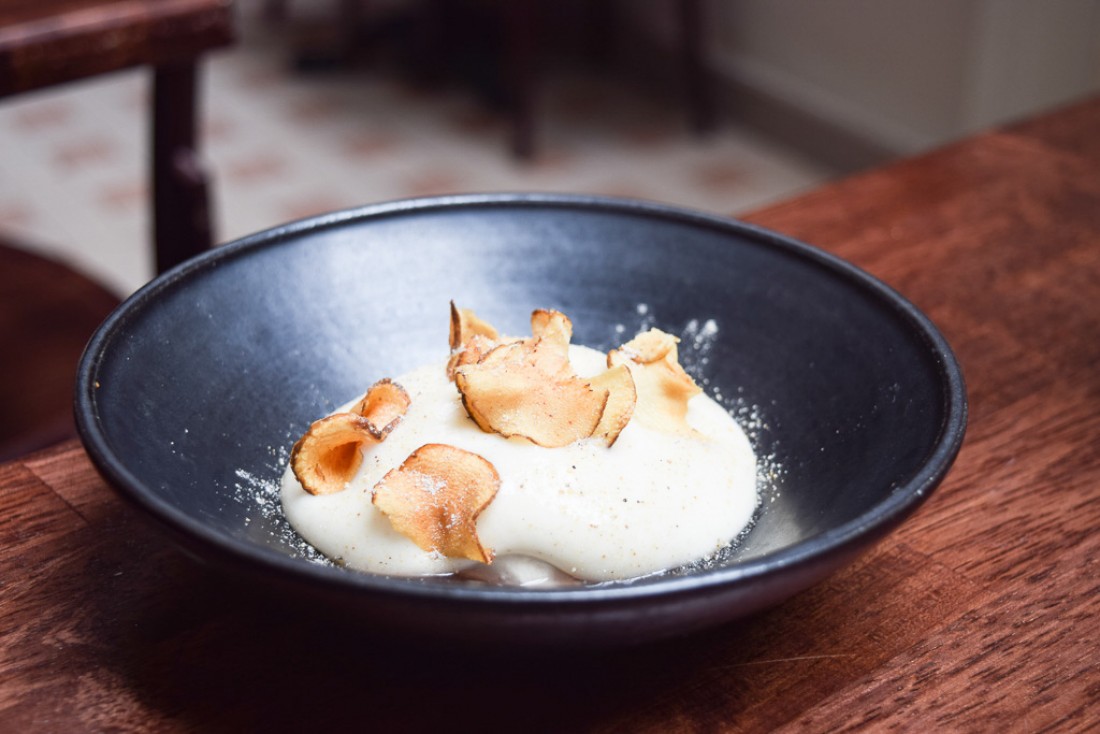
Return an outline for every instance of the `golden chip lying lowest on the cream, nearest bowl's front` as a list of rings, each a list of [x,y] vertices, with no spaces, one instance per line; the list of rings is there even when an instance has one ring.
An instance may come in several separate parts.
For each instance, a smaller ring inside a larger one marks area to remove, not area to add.
[[[372,502],[394,529],[426,551],[493,562],[477,538],[477,516],[501,489],[483,457],[444,443],[428,443],[374,485]]]

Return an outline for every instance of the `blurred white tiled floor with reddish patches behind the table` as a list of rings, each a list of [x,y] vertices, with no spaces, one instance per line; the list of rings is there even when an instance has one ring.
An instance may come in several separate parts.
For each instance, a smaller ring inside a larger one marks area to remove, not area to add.
[[[685,132],[683,110],[608,79],[553,75],[535,161],[508,120],[462,89],[382,72],[300,76],[286,39],[246,22],[205,67],[205,154],[221,242],[311,213],[410,196],[549,190],[737,213],[829,172],[726,122]],[[124,295],[152,275],[147,79],[118,74],[0,103],[0,229]]]

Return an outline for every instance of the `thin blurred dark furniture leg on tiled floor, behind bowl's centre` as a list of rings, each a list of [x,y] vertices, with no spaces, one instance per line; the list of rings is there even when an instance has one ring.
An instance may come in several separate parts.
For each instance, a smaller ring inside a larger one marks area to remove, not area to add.
[[[536,19],[534,0],[506,6],[508,95],[513,114],[512,152],[528,160],[535,154]]]

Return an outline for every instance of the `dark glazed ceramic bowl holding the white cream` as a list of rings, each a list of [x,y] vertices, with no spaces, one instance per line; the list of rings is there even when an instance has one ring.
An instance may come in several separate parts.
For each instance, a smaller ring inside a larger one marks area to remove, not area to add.
[[[674,333],[714,319],[695,376],[741,413],[756,408],[757,450],[781,469],[741,545],[706,570],[566,590],[302,558],[254,487],[277,480],[311,420],[381,376],[442,359],[451,298],[514,333],[534,308],[558,308],[574,342],[604,348],[622,338],[616,325],[641,326],[642,310]],[[96,333],[76,416],[122,496],[276,600],[415,634],[613,644],[734,620],[851,561],[944,478],[966,396],[923,315],[809,245],[650,204],[504,195],[337,212],[176,267]]]

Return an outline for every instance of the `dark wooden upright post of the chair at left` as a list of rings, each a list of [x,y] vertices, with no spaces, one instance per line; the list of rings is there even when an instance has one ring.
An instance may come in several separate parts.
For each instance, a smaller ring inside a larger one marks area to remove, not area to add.
[[[207,176],[196,146],[197,76],[193,64],[153,70],[153,240],[156,272],[212,243]]]

